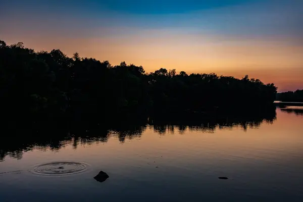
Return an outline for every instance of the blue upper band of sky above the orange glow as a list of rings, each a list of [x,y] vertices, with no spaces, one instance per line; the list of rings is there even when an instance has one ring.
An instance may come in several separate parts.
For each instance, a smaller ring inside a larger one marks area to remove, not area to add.
[[[219,34],[299,36],[303,33],[302,8],[301,0],[10,0],[2,4],[0,16],[27,22],[40,19],[71,29],[172,27]]]

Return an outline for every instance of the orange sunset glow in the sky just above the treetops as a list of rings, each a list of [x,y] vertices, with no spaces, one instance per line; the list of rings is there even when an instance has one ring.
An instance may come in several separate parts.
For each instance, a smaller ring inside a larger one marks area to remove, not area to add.
[[[61,49],[70,57],[78,52],[80,57],[108,60],[112,65],[125,61],[142,65],[147,73],[164,67],[188,74],[215,72],[237,78],[248,74],[264,83],[275,83],[279,91],[303,88],[303,70],[300,68],[303,66],[303,46],[287,42],[245,38],[233,41],[207,35],[168,37],[165,34],[157,37],[128,35],[122,38],[61,37],[52,40],[48,37],[26,36],[24,40],[17,40],[12,35],[4,40],[8,44],[23,41],[25,46],[35,51]]]

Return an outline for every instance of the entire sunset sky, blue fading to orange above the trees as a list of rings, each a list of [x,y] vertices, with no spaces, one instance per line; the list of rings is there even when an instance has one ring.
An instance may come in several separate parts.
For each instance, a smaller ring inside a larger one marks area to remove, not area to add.
[[[303,89],[301,0],[4,0],[0,18],[1,40],[35,51]]]

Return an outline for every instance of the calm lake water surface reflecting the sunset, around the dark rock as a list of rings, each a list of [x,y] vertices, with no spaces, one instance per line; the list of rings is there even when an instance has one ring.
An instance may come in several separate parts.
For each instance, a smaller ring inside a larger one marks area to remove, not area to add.
[[[257,121],[82,133],[6,143],[2,138],[0,201],[303,198],[302,107],[277,108],[276,117]],[[104,182],[93,179],[100,170],[110,176]]]

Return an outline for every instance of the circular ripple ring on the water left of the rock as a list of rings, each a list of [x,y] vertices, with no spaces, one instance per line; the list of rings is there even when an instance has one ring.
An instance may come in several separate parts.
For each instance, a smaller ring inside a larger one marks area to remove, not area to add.
[[[83,172],[87,165],[81,162],[52,162],[35,166],[34,174],[40,175],[67,175]]]

